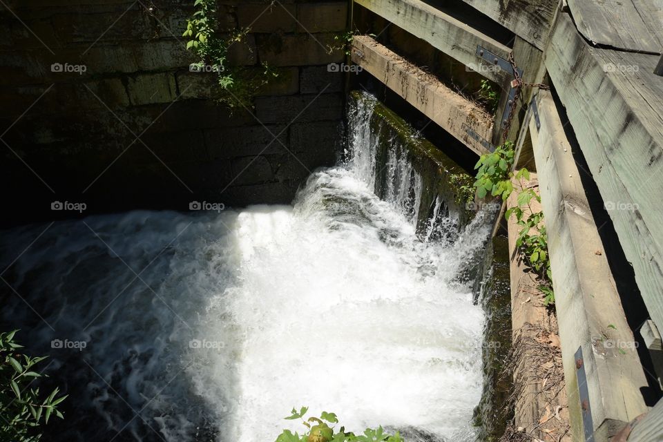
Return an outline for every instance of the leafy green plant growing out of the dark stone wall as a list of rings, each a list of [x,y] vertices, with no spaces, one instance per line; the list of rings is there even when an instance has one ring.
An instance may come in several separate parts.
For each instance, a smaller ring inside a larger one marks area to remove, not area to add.
[[[258,90],[278,77],[276,70],[263,63],[259,68],[227,66],[228,51],[247,37],[250,28],[224,30],[218,34],[216,0],[195,0],[195,12],[186,21],[182,37],[189,37],[186,48],[199,59],[191,65],[193,70],[210,71],[218,76],[218,101],[229,108],[252,107]]]

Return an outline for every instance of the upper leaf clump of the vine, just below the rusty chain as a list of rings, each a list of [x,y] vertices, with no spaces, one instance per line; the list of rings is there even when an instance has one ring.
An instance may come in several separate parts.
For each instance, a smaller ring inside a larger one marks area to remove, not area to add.
[[[486,198],[488,193],[500,196],[502,200],[509,198],[513,191],[511,184],[513,155],[512,142],[497,146],[492,153],[481,155],[479,162],[474,166],[474,169],[478,169],[474,187],[477,188],[479,198]]]

